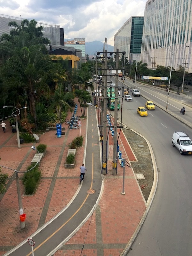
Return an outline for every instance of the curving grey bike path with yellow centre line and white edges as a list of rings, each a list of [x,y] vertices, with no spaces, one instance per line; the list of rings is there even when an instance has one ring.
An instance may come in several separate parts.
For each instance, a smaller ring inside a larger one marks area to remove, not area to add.
[[[100,145],[98,129],[95,129],[97,127],[95,111],[88,110],[87,117],[86,140],[89,143],[86,143],[84,163],[88,171],[85,173],[78,194],[68,208],[61,214],[56,215],[56,218],[48,222],[48,225],[31,236],[35,242],[33,251],[36,256],[52,255],[62,244],[66,243],[91,215],[101,193]],[[5,255],[28,256],[31,254],[31,246],[25,240]]]

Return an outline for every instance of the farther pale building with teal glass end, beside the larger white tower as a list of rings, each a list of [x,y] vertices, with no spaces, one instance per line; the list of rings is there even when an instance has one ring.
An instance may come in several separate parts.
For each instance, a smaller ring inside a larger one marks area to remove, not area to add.
[[[140,60],[143,22],[143,16],[132,16],[114,36],[114,51],[125,51],[129,61]]]

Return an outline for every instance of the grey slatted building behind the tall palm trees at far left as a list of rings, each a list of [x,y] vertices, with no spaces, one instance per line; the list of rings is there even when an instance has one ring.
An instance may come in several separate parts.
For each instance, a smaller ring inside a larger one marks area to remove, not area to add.
[[[23,19],[21,18],[0,14],[0,36],[2,36],[2,34],[4,33],[8,35],[10,34],[10,30],[12,29],[11,27],[8,26],[8,23],[10,21],[15,21],[20,25],[22,20]],[[42,22],[37,22],[37,26],[44,27],[43,36],[47,37],[51,41],[51,44],[64,45],[64,37],[63,37],[63,40],[60,39],[59,25],[51,25],[51,24],[46,24]],[[63,33],[63,29],[61,29],[61,33]],[[61,42],[63,42],[63,44],[60,44]]]

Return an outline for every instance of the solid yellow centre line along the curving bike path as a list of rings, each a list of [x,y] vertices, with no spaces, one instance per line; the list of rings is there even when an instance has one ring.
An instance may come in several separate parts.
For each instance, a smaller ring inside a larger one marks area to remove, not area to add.
[[[90,189],[92,189],[92,185],[93,185],[93,153],[92,153],[92,180],[91,180],[91,186]],[[83,203],[81,204],[81,206],[76,210],[76,212],[65,222],[63,223],[62,226],[60,226],[60,228],[58,228],[55,232],[52,233],[51,236],[47,237],[47,239],[45,239],[41,244],[39,244],[33,251],[35,252],[39,247],[41,247],[44,243],[46,243],[50,238],[52,238],[52,236],[54,236],[58,231],[60,231],[61,228],[63,228],[83,207],[84,203],[87,201],[87,198],[89,197],[90,194],[87,194],[87,196],[85,197],[85,200],[83,201]],[[26,256],[31,255],[32,252],[28,253]]]

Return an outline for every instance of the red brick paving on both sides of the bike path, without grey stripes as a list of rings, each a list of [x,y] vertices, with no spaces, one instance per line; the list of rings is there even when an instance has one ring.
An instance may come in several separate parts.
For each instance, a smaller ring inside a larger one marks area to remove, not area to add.
[[[78,106],[77,115],[81,115],[80,107]],[[71,113],[68,114],[68,119]],[[86,135],[86,119],[81,120],[81,134],[85,138]],[[6,121],[5,121],[6,122]],[[26,154],[30,152],[29,156],[24,159],[21,170],[30,164],[34,155],[34,151],[30,149],[31,145],[22,144],[21,149],[17,148],[16,134],[11,132],[8,122],[7,132],[0,133],[0,157],[1,164],[16,169],[21,161],[25,158]],[[57,179],[52,191],[52,198],[50,200],[49,208],[45,218],[45,223],[62,210],[72,196],[75,194],[79,186],[79,165],[77,164],[74,169],[66,169],[64,167],[68,145],[76,137],[80,136],[79,130],[68,130],[68,125],[63,124],[66,128],[66,135],[62,138],[57,138],[55,131],[49,131],[40,136],[40,143],[48,145],[48,150],[45,157],[41,160],[40,168],[42,170],[42,180],[34,196],[24,196],[24,188],[20,181],[20,189],[22,194],[24,212],[27,215],[26,226],[27,228],[20,231],[18,199],[16,192],[16,182],[12,181],[11,186],[3,196],[0,202],[0,248],[5,248],[0,251],[0,255],[6,252],[9,246],[19,244],[26,237],[30,236],[36,231],[39,225],[40,217],[43,211],[46,196],[50,189],[52,177],[55,172],[56,164],[58,161],[61,148],[66,139],[66,146],[64,148],[63,157],[59,170],[57,172]],[[67,138],[66,138],[67,137]],[[110,134],[110,141],[112,136]],[[4,144],[3,144],[4,143]],[[85,143],[85,140],[84,140]],[[120,150],[122,156],[128,156],[126,160],[135,161],[134,153],[132,152],[123,132],[120,133]],[[135,179],[134,172],[128,166],[125,167],[125,195],[122,195],[123,184],[123,168],[118,163],[117,175],[112,175],[112,143],[109,146],[109,159],[108,159],[108,174],[104,176],[104,190],[99,205],[92,214],[92,218],[71,237],[68,242],[56,253],[54,256],[64,255],[80,255],[81,248],[85,242],[82,255],[98,255],[98,243],[102,245],[104,256],[117,256],[124,249],[129,239],[133,235],[139,221],[145,211],[145,202],[142,197],[137,180]],[[125,153],[126,152],[126,153]],[[11,156],[11,157],[10,157]],[[79,148],[76,153],[76,162],[82,163],[84,156],[84,146]],[[6,169],[2,168],[4,173]],[[12,176],[12,171],[8,171],[9,177]],[[19,174],[21,177],[22,174]],[[70,179],[63,179],[63,177],[72,177]],[[99,216],[99,218],[98,218]],[[99,220],[99,222],[98,222]],[[100,227],[100,230],[98,230]],[[99,241],[101,240],[101,241]],[[113,245],[110,247],[110,245]],[[116,247],[114,247],[117,245]],[[70,246],[79,246],[76,248],[69,248]],[[114,249],[116,248],[116,249]]]

